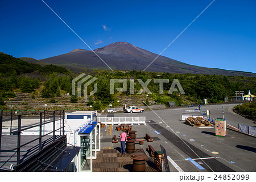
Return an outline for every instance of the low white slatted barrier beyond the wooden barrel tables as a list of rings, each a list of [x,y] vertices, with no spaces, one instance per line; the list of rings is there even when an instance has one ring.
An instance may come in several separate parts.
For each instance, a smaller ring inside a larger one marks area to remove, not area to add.
[[[121,125],[121,124],[146,124],[146,117],[97,117],[97,122],[105,125]]]

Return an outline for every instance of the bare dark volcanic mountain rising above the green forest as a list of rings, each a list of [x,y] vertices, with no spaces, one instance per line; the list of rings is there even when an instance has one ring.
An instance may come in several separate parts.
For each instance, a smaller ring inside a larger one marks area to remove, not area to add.
[[[103,59],[113,70],[143,71],[158,55],[136,47],[127,42],[116,42],[109,46],[95,49],[94,52]],[[56,64],[72,68],[109,69],[108,66],[94,53],[85,49],[75,49],[63,55],[40,60],[43,63]],[[230,76],[256,76],[255,73],[226,71],[224,69],[204,68],[189,65],[159,56],[146,69],[151,72],[170,73],[196,73],[205,75],[230,75]]]

